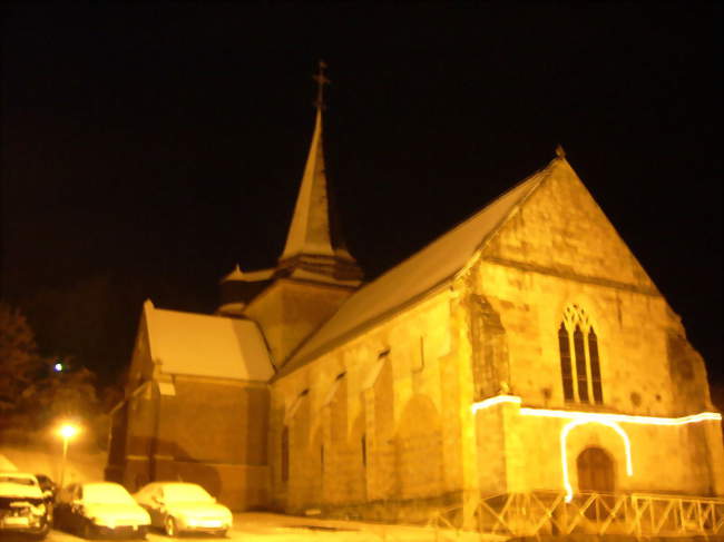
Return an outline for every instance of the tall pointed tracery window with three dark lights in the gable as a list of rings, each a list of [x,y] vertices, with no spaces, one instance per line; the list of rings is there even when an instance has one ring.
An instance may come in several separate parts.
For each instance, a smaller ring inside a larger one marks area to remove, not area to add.
[[[558,348],[566,401],[601,404],[598,337],[588,315],[577,305],[570,305],[564,313]]]

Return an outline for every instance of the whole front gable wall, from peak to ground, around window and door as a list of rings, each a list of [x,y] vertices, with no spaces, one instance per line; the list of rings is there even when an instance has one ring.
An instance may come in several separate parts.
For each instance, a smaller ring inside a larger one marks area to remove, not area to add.
[[[498,364],[489,373],[507,376],[503,387],[525,406],[662,417],[713,410],[704,363],[686,341],[678,317],[575,176],[549,178],[460,284],[464,295],[478,304],[483,299],[486,311],[495,315],[487,317],[495,321],[489,331],[471,335],[473,356],[476,348],[490,343],[486,333],[500,333],[499,322],[503,346],[486,363]],[[564,398],[558,327],[570,304],[586,312],[598,336],[604,395],[599,406]],[[477,420],[479,431],[481,420],[488,420],[488,426],[491,420],[502,424],[509,491],[561,489],[560,432],[567,422],[520,416],[512,405],[479,412]],[[618,465],[618,490],[721,493],[718,422],[620,425],[632,442],[634,476],[622,466],[622,437],[610,427],[589,424],[576,428],[568,441],[574,486],[577,454],[601,446]],[[479,457],[487,453],[480,442],[478,451]],[[485,483],[481,474],[481,487]]]

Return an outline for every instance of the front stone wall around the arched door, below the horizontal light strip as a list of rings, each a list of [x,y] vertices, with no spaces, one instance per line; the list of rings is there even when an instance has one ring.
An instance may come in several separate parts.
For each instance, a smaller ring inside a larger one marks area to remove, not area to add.
[[[506,427],[501,434],[506,440],[516,438],[519,443],[503,446],[509,492],[562,491],[564,469],[567,469],[574,491],[577,491],[578,455],[588,447],[600,447],[614,460],[617,492],[721,494],[721,487],[716,485],[718,473],[712,470],[721,456],[714,456],[717,443],[706,435],[710,430],[721,431],[718,422],[674,426],[619,422],[618,426],[630,443],[633,474],[629,476],[625,438],[610,426],[585,423],[573,428],[566,438],[567,462],[564,465],[561,430],[571,421],[521,415],[519,411],[519,405],[508,403],[476,414],[479,427],[488,428],[493,417],[505,420]],[[499,440],[493,438],[493,442]],[[489,461],[490,441],[479,441],[479,453],[481,462],[488,466],[500,464],[499,455],[496,455],[498,463]],[[481,490],[486,490],[482,483]]]

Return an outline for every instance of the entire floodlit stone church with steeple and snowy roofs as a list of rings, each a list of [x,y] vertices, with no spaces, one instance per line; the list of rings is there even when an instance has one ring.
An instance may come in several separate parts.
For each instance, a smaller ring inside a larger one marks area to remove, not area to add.
[[[562,149],[369,283],[331,201],[320,99],[276,266],[233,269],[213,315],[145,303],[108,480],[383,521],[505,495],[722,504],[704,362]]]

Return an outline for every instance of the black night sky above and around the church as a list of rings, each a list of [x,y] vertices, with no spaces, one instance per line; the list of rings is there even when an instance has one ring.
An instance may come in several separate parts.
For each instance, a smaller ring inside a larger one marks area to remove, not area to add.
[[[106,380],[145,297],[212,312],[236,263],[281,255],[324,59],[327,176],[368,277],[561,144],[724,380],[721,4],[575,6],[6,8],[2,296],[130,287],[87,362]]]

